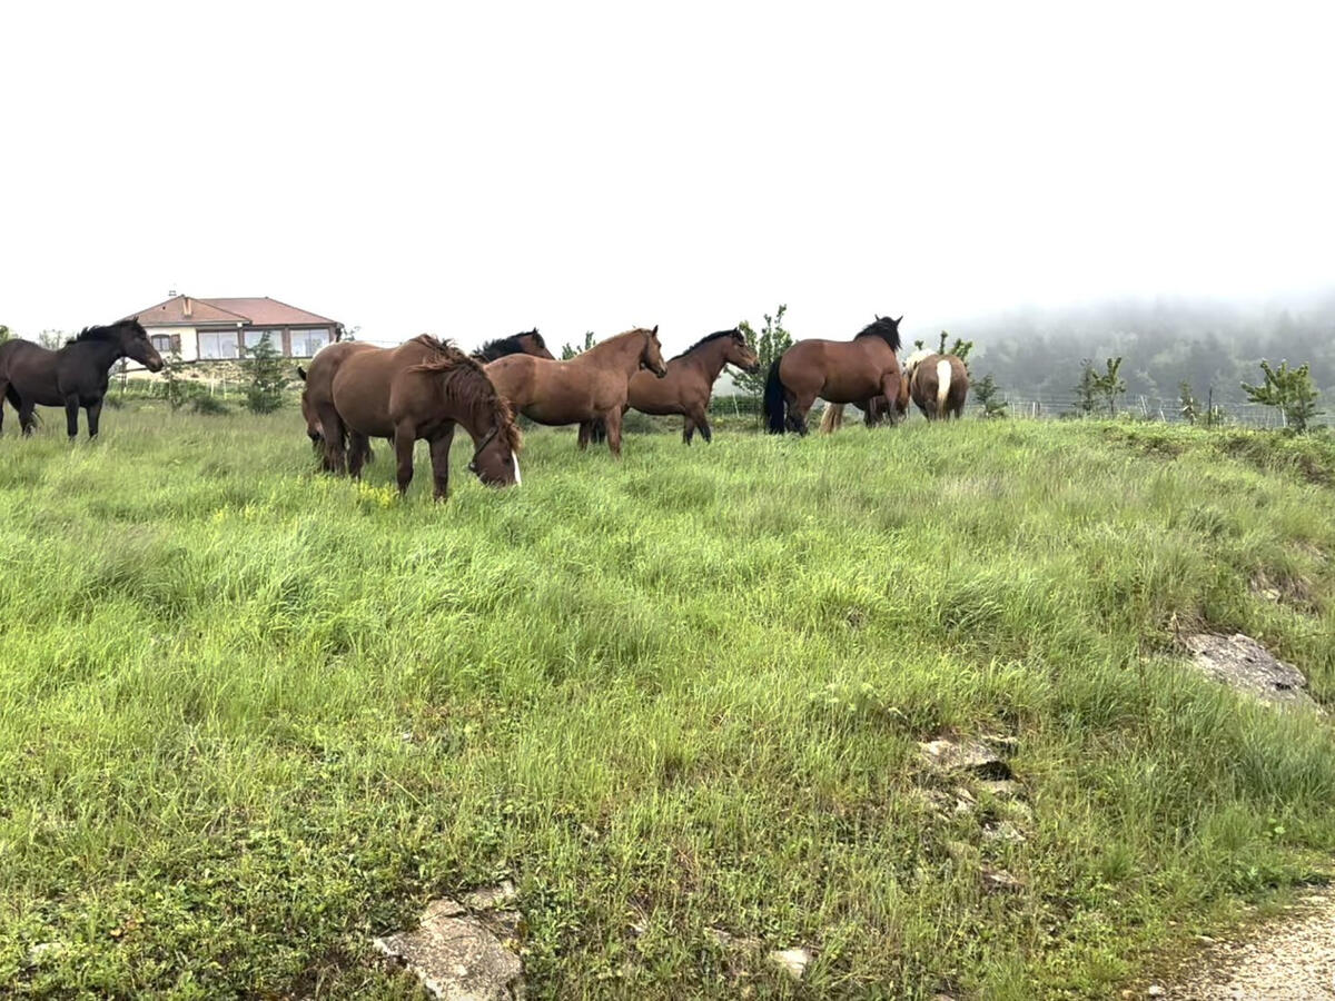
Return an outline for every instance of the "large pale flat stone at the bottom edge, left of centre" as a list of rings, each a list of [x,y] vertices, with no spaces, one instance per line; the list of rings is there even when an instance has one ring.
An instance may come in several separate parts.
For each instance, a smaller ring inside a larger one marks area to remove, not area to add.
[[[372,945],[411,969],[433,997],[511,1001],[523,989],[519,957],[458,901],[433,901],[415,932],[376,938]]]

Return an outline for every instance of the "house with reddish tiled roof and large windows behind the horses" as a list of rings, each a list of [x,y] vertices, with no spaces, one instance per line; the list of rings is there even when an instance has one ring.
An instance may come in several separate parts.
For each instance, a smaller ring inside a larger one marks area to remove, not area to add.
[[[283,358],[310,358],[343,336],[338,320],[268,296],[195,299],[174,292],[129,316],[139,318],[159,354],[176,352],[183,362],[242,358],[243,348],[259,346],[266,334]]]

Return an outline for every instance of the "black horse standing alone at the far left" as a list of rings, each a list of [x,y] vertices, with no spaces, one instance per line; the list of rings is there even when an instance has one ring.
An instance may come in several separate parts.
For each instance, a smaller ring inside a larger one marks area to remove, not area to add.
[[[101,400],[107,395],[111,367],[121,358],[160,372],[163,358],[148,340],[138,316],[107,327],[84,327],[59,351],[31,340],[0,344],[0,428],[5,399],[19,411],[19,427],[31,435],[37,423],[33,410],[64,407],[69,440],[79,436],[79,407],[88,415],[88,438],[97,436]]]

